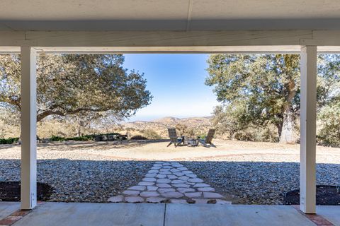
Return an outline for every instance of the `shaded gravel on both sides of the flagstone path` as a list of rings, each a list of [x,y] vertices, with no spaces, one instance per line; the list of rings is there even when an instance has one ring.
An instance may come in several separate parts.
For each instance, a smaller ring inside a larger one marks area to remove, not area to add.
[[[136,185],[154,161],[38,160],[38,182],[50,184],[50,201],[106,202]],[[283,204],[299,188],[297,162],[181,162],[233,203]],[[0,181],[20,181],[20,160],[0,160]],[[340,184],[340,164],[317,164],[317,184]]]

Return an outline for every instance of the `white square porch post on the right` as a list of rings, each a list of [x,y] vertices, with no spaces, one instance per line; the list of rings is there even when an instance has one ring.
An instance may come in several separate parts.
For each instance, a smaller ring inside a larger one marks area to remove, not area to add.
[[[315,213],[317,46],[301,48],[300,210]]]

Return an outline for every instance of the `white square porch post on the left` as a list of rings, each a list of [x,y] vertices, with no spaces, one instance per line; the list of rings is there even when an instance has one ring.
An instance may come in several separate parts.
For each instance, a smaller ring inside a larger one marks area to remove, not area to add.
[[[37,205],[36,52],[21,47],[21,209]]]

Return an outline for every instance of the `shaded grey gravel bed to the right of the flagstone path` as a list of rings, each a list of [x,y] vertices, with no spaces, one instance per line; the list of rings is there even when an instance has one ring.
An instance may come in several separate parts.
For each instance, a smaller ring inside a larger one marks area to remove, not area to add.
[[[283,204],[299,188],[297,162],[181,162],[232,203]],[[340,184],[339,164],[317,164],[317,184]],[[234,197],[230,197],[234,196]]]

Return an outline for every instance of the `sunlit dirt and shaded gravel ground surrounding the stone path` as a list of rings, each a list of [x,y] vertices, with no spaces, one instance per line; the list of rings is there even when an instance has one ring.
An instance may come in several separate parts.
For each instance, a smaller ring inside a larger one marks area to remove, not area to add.
[[[298,145],[217,141],[217,148],[168,142],[68,142],[38,145],[38,182],[50,201],[107,202],[135,186],[157,160],[180,162],[233,203],[283,204],[299,188]],[[0,182],[20,180],[20,146],[0,145]],[[317,147],[317,184],[340,185],[340,148]]]

